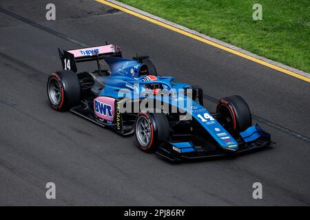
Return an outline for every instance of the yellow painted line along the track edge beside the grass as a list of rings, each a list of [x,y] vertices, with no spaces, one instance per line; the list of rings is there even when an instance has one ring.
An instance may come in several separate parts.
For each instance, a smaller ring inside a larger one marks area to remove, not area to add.
[[[149,17],[147,17],[147,16],[145,16],[145,15],[143,15],[143,14],[139,14],[139,13],[134,12],[134,11],[132,11],[132,10],[129,10],[129,9],[127,9],[127,8],[123,8],[123,7],[121,7],[120,5],[116,5],[116,4],[114,4],[114,3],[111,3],[111,2],[105,1],[105,0],[95,0],[95,1],[98,1],[98,2],[100,2],[100,3],[103,3],[103,4],[105,4],[105,5],[110,6],[110,7],[112,7],[112,8],[116,8],[116,9],[118,9],[118,10],[121,10],[121,11],[123,11],[123,12],[126,12],[127,14],[132,14],[132,15],[134,15],[135,17],[138,17],[138,18],[140,18],[140,19],[143,19],[143,20],[146,20],[146,21],[155,23],[156,25],[160,25],[160,26],[163,27],[163,28],[167,28],[167,29],[169,29],[169,30],[173,30],[174,32],[178,32],[178,33],[183,34],[183,35],[185,35],[185,36],[189,36],[189,37],[192,38],[192,39],[196,39],[196,40],[201,41],[201,42],[203,42],[203,43],[207,43],[207,44],[212,45],[212,46],[214,46],[214,47],[220,48],[221,50],[225,50],[225,51],[227,51],[227,52],[229,52],[229,53],[231,53],[231,54],[236,54],[237,56],[241,56],[242,58],[246,58],[247,60],[253,61],[253,62],[255,62],[255,63],[259,63],[259,64],[264,65],[264,66],[266,66],[266,67],[269,67],[269,68],[271,68],[271,69],[276,69],[278,72],[282,72],[282,73],[287,74],[287,75],[289,75],[289,76],[293,76],[293,77],[299,78],[300,80],[304,80],[304,81],[306,81],[307,83],[310,83],[310,78],[307,78],[307,77],[302,76],[302,75],[300,75],[300,74],[296,74],[296,73],[294,73],[294,72],[291,72],[291,71],[289,71],[289,70],[287,70],[287,69],[283,69],[283,68],[278,67],[278,66],[276,66],[276,65],[273,65],[273,64],[271,64],[271,63],[267,63],[267,62],[265,62],[265,61],[260,61],[258,58],[254,58],[253,56],[249,56],[249,55],[247,55],[247,54],[242,54],[241,52],[238,52],[238,51],[236,51],[236,50],[232,50],[232,49],[229,48],[229,47],[225,47],[225,46],[220,45],[220,44],[218,44],[218,43],[214,43],[214,42],[209,41],[209,40],[207,40],[207,39],[203,39],[202,37],[196,36],[195,34],[191,34],[191,33],[186,32],[186,31],[184,31],[184,30],[180,30],[180,29],[178,29],[178,28],[174,28],[172,25],[167,25],[166,23],[163,23],[163,22],[161,22],[161,21],[157,21],[157,20],[155,20],[155,19],[149,18]]]

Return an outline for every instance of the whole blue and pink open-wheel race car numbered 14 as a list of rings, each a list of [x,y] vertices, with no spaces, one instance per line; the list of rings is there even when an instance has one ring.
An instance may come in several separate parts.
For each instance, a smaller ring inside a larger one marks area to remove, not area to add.
[[[112,44],[59,49],[59,56],[63,70],[48,77],[52,108],[72,111],[124,136],[135,135],[142,151],[181,161],[273,143],[269,133],[252,125],[249,106],[240,96],[218,100],[211,113],[204,107],[203,89],[158,75],[149,56],[123,58],[121,47]],[[98,69],[77,71],[77,63],[90,61]],[[108,68],[101,67],[103,61]]]

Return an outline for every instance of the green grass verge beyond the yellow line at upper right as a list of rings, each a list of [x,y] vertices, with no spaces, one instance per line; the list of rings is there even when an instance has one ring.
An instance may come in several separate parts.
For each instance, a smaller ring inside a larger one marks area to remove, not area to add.
[[[310,73],[309,0],[118,0]],[[262,20],[254,21],[254,3]]]

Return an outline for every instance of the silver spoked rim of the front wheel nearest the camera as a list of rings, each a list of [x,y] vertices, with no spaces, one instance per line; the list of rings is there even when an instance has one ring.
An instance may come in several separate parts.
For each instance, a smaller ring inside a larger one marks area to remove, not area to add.
[[[147,118],[142,116],[136,122],[136,137],[141,146],[148,146],[151,141],[151,125]]]

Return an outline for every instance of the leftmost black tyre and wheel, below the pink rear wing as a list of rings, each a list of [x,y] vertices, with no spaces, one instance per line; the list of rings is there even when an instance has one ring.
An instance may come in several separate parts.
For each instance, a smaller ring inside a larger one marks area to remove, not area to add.
[[[48,76],[48,99],[52,108],[67,111],[80,102],[79,78],[71,70],[53,72]]]

